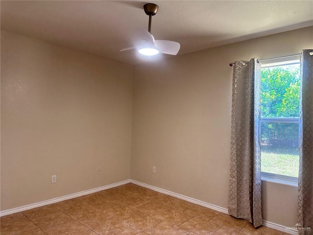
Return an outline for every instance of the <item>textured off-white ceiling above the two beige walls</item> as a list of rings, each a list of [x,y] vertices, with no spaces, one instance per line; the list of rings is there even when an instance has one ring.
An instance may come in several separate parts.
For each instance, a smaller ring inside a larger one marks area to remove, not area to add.
[[[1,30],[73,47],[129,64],[153,61],[133,46],[148,28],[148,1],[0,1]],[[313,25],[312,0],[152,0],[156,39],[180,43],[178,55]]]

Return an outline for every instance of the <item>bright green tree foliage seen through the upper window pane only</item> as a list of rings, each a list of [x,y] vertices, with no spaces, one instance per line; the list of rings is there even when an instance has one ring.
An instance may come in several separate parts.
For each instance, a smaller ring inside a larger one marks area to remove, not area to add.
[[[299,117],[299,65],[261,70],[262,117]]]

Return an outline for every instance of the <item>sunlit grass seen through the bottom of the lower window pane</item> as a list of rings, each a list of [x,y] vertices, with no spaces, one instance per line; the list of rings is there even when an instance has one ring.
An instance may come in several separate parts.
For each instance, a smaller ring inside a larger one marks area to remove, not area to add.
[[[298,177],[299,154],[277,151],[261,152],[261,170],[280,175]]]

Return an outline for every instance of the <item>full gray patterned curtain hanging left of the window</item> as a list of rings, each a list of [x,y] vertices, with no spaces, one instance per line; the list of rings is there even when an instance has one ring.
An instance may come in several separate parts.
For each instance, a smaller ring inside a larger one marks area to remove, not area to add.
[[[255,58],[236,61],[233,71],[228,212],[262,225],[261,65]]]

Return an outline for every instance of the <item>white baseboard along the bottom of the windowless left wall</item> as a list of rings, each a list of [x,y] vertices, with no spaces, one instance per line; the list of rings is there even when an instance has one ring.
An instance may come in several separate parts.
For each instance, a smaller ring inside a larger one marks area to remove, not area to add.
[[[120,186],[120,185],[125,185],[125,184],[128,184],[130,182],[131,182],[131,180],[124,180],[124,181],[117,182],[117,183],[114,183],[114,184],[111,184],[111,185],[106,185],[106,186],[102,186],[102,187],[99,187],[99,188],[92,188],[92,189],[89,189],[89,190],[72,193],[72,194],[69,194],[69,195],[66,195],[66,196],[62,196],[62,197],[57,197],[57,198],[49,199],[49,200],[42,201],[42,202],[33,203],[33,204],[22,206],[22,207],[17,207],[17,208],[5,210],[5,211],[0,211],[0,217],[4,216],[4,215],[9,215],[9,214],[21,212],[21,211],[30,210],[30,209],[33,209],[33,208],[36,208],[36,207],[46,206],[46,205],[49,205],[49,204],[52,204],[52,203],[56,203],[56,202],[65,201],[65,200],[72,199],[72,198],[75,198],[75,197],[81,197],[81,196],[84,196],[84,195],[87,195],[87,194],[90,194],[90,193],[102,191],[102,190],[109,189],[109,188],[114,188],[114,187],[117,187],[117,186]]]

